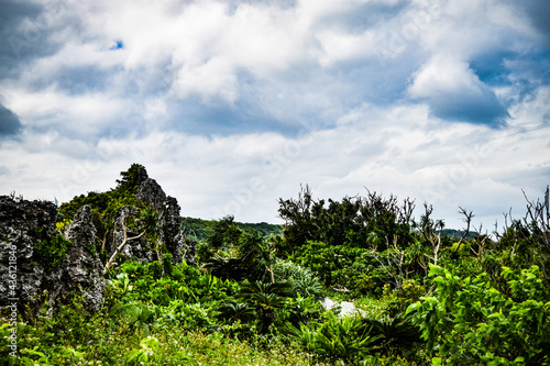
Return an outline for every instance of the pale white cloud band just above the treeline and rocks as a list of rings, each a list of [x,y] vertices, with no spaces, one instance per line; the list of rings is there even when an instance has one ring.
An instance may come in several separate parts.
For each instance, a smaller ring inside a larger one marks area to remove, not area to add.
[[[190,217],[235,214],[242,221],[277,222],[277,199],[296,197],[299,185],[309,184],[317,198],[364,195],[366,187],[399,199],[416,198],[417,206],[427,201],[450,228],[461,226],[462,206],[474,211],[476,224],[487,228],[509,207],[519,212],[521,188],[536,196],[550,168],[548,157],[537,153],[548,149],[549,129],[449,127],[430,118],[422,104],[364,104],[332,129],[314,125],[306,131],[300,137],[157,131],[80,144],[61,134],[26,133],[22,143],[7,146],[14,156],[4,163],[12,174],[3,185],[25,197],[64,201],[109,189],[119,171],[138,162]],[[44,168],[35,171],[29,162]],[[40,186],[29,180],[41,175]]]

